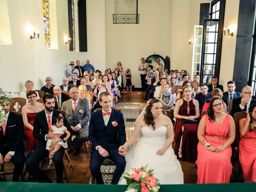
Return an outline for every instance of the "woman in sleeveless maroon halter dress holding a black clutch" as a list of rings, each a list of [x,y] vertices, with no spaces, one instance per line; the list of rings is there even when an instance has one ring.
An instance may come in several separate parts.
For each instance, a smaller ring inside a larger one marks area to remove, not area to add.
[[[199,118],[198,101],[191,97],[192,88],[188,85],[182,88],[183,98],[176,101],[174,109],[175,124],[175,148],[177,157],[189,162],[197,159],[197,129]]]

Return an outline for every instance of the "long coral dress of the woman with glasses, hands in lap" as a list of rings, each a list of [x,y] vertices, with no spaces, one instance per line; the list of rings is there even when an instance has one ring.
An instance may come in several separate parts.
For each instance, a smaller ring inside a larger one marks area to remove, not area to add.
[[[208,118],[206,114],[204,138],[211,146],[216,148],[223,145],[228,139],[230,115],[226,115],[222,123],[217,121],[212,123]],[[229,183],[232,174],[232,164],[230,161],[232,156],[231,146],[228,146],[222,152],[211,152],[199,142],[197,150],[197,183]]]

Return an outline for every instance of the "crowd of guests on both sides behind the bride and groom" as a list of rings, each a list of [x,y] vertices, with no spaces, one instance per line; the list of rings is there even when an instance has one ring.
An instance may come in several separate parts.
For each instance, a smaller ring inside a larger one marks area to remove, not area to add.
[[[28,140],[28,152],[35,151],[26,161],[29,173],[38,178],[39,182],[51,182],[51,179],[38,168],[38,163],[48,156],[48,150],[45,148],[48,139],[53,140],[50,148],[54,148],[60,141],[65,142],[66,133],[58,136],[49,131],[56,117],[63,116],[64,126],[70,134],[75,135],[70,137],[67,143],[70,152],[73,153],[75,150],[73,155],[78,155],[80,147],[88,140],[90,113],[101,108],[99,95],[102,92],[109,92],[114,104],[114,98],[120,98],[125,86],[126,89],[131,86],[130,70],[126,71],[125,84],[123,72],[121,62],[118,62],[113,71],[108,68],[104,74],[100,70],[95,71],[89,60],[83,67],[80,66],[79,60],[76,61],[76,66],[74,62],[70,62],[67,77],[62,79],[60,86],[55,86],[52,84],[52,78],[46,77],[46,85],[41,88],[45,95],[40,102],[37,101],[38,92],[33,90],[34,83],[28,80],[25,82],[26,90],[19,95],[27,101],[22,108],[22,119],[10,112],[9,101],[6,99],[6,121],[8,122],[9,118],[17,121],[17,130],[12,136],[12,133],[2,131],[0,137],[6,136],[13,140],[19,138],[19,143],[5,144],[3,140],[0,142],[0,164],[12,159],[15,167],[13,181],[19,180],[17,174],[20,174],[24,166],[24,162],[19,158],[20,154],[24,153],[22,140],[25,137]],[[148,74],[150,73],[151,71]],[[242,93],[239,93],[235,91],[235,82],[228,81],[228,91],[223,93],[223,86],[218,84],[216,76],[209,78],[210,84],[200,84],[200,76],[195,75],[190,81],[186,70],[169,71],[168,68],[161,67],[161,71],[154,70],[153,74],[154,76],[150,76],[150,83],[146,85],[144,99],[157,98],[161,101],[162,108],[173,110],[173,120],[176,121],[174,151],[177,158],[196,163],[197,183],[229,182],[232,174],[231,144],[235,139],[233,118],[237,112],[247,112],[247,117],[239,122],[239,160],[244,181],[256,182],[256,100],[252,98],[252,88],[245,86]],[[175,89],[174,92],[174,88],[177,87],[180,90]],[[60,183],[63,182],[63,154],[64,148],[61,148],[52,155],[56,164],[57,182]]]

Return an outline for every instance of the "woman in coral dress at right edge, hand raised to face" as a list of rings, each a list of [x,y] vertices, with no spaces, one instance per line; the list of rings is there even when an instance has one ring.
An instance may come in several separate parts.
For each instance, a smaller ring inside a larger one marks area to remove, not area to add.
[[[247,117],[239,121],[240,138],[239,160],[244,181],[256,182],[256,104],[249,107]]]

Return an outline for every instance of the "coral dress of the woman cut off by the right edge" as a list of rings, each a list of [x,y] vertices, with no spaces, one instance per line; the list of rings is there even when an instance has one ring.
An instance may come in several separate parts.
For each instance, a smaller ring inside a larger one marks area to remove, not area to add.
[[[246,123],[246,118],[243,119]],[[242,165],[244,181],[256,182],[256,131],[249,132],[248,128],[244,136],[240,135],[239,160]]]

